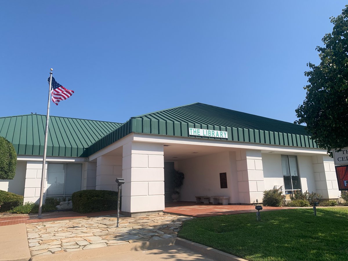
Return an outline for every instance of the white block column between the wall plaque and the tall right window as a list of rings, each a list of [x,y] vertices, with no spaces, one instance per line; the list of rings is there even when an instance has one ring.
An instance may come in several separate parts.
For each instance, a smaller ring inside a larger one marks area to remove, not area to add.
[[[238,190],[240,203],[262,202],[264,177],[260,150],[236,152]]]

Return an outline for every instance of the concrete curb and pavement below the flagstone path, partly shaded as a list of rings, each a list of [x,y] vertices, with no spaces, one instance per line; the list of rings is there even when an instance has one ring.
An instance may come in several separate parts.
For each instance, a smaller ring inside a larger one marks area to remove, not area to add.
[[[247,261],[211,247],[181,238],[167,238],[148,242],[107,246],[84,251],[64,252],[54,255],[34,256],[32,261],[157,261],[157,260],[206,260]]]

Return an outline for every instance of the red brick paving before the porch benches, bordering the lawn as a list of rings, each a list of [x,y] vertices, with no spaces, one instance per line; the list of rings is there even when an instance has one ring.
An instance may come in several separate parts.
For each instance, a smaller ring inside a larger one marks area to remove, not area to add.
[[[289,209],[291,207],[263,207],[262,211]],[[180,214],[187,216],[218,216],[240,213],[257,212],[255,206],[251,205],[213,205],[213,204],[197,204],[189,201],[178,201],[166,203],[164,211],[170,214]]]

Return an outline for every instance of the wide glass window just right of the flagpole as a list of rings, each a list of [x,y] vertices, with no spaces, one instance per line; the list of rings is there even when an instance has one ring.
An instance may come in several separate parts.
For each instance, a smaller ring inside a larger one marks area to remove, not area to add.
[[[48,164],[47,196],[71,196],[81,190],[82,164]]]

